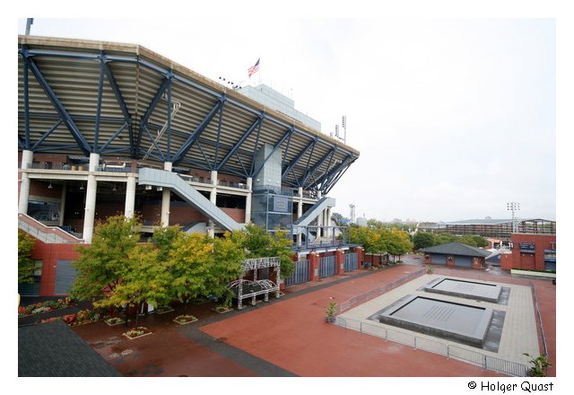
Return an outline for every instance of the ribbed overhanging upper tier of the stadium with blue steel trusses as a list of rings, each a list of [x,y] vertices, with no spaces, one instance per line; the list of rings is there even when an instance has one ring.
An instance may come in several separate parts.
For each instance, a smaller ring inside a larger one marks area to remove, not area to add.
[[[273,145],[283,153],[283,185],[324,193],[359,157],[340,140],[133,44],[19,36],[18,116],[21,150],[172,162],[175,171],[254,177],[262,168],[257,149]]]

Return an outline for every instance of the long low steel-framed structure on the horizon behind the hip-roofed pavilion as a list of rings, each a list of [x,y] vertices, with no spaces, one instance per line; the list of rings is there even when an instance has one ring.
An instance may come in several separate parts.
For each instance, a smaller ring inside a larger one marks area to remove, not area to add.
[[[477,234],[484,238],[510,241],[511,219],[469,219],[449,223],[421,224],[419,230],[431,233],[452,233],[458,236]],[[517,220],[517,233],[556,234],[556,222],[540,218]]]

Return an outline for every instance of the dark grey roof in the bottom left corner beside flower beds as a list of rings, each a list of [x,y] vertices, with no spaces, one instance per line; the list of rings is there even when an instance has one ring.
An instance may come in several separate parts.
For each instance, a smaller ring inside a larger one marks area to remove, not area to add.
[[[120,377],[63,321],[18,328],[19,377]]]

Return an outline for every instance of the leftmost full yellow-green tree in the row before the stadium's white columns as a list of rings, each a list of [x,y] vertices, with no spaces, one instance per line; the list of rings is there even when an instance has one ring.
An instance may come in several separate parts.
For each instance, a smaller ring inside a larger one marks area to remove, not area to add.
[[[96,224],[90,245],[78,248],[80,257],[71,294],[78,300],[112,294],[126,273],[126,262],[139,241],[139,223],[123,215]]]

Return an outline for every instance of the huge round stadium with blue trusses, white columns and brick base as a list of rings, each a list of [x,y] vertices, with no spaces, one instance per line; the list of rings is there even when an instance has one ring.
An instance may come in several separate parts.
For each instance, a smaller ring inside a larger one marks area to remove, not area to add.
[[[269,87],[242,91],[138,45],[19,36],[18,223],[37,240],[20,292],[66,294],[77,244],[118,214],[144,233],[288,229],[306,266],[287,285],[356,268],[328,194],[359,152]]]

